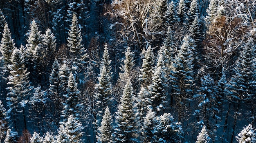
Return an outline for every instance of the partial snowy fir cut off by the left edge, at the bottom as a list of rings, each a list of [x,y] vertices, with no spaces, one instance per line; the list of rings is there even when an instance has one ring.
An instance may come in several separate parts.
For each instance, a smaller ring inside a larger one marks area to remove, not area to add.
[[[2,104],[2,101],[0,100],[0,143],[3,141],[7,132],[7,123],[7,112],[4,108],[4,105]]]

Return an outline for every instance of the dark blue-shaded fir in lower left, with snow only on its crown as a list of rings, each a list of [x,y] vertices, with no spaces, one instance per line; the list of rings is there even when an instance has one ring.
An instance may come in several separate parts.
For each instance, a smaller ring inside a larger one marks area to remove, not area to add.
[[[29,110],[29,117],[31,119],[31,123],[33,123],[34,127],[38,127],[38,131],[45,132],[47,128],[44,127],[47,121],[45,117],[45,110],[47,102],[49,99],[47,97],[47,91],[42,90],[41,86],[34,88],[35,92],[33,96],[30,97],[29,104],[31,105],[31,109]],[[44,119],[42,121],[42,119]]]

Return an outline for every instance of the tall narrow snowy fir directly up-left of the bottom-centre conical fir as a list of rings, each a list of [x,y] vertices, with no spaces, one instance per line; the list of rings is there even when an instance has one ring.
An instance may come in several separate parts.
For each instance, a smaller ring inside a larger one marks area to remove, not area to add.
[[[99,116],[102,116],[102,111],[107,106],[110,106],[110,95],[112,92],[112,72],[110,66],[111,60],[108,53],[108,45],[104,47],[103,58],[100,65],[100,74],[98,77],[99,83],[95,87],[95,99],[97,101],[96,108],[99,111]]]

